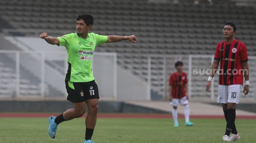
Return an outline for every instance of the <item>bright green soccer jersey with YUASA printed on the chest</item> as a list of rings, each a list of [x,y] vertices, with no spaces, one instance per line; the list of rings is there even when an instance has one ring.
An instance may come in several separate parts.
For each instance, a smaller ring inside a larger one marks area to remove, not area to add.
[[[65,80],[70,82],[89,82],[94,80],[92,59],[95,46],[106,43],[107,36],[88,33],[86,39],[77,33],[70,33],[58,37],[60,46],[67,49],[69,64]]]

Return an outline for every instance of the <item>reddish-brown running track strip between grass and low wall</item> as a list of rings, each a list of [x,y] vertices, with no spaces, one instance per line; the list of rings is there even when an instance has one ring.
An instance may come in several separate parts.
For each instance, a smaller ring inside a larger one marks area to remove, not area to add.
[[[0,118],[48,118],[49,116],[58,116],[58,114],[49,113],[0,113]],[[86,115],[82,116],[85,117]],[[171,114],[98,114],[98,118],[172,118]],[[184,118],[179,115],[178,118]],[[191,115],[194,119],[224,119],[223,116],[209,115]],[[256,119],[256,116],[236,116],[236,119]]]

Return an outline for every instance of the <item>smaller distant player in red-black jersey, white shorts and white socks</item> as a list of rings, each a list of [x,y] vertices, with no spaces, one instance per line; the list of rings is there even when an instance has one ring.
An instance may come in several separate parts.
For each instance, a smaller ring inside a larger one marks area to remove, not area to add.
[[[177,106],[185,106],[185,126],[192,126],[193,123],[189,121],[189,97],[187,95],[187,74],[183,72],[183,63],[178,61],[175,63],[176,72],[172,73],[169,80],[169,100],[171,101],[172,109],[172,118],[174,120],[174,127],[178,127],[178,112]]]

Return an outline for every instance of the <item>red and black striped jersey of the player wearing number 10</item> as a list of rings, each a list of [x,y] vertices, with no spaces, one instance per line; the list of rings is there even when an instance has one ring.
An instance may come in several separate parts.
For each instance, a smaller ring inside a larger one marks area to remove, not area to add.
[[[220,60],[219,84],[243,84],[242,62],[248,61],[247,49],[244,43],[234,39],[230,44],[226,41],[218,43],[214,55]]]

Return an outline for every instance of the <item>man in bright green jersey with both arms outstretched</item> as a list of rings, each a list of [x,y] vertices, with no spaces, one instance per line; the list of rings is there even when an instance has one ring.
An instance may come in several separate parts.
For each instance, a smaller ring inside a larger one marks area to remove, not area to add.
[[[88,114],[85,119],[84,143],[93,143],[91,137],[96,125],[98,112],[98,86],[91,70],[92,58],[95,46],[123,40],[133,43],[137,41],[136,36],[102,36],[89,33],[94,18],[90,14],[81,14],[76,18],[76,33],[66,34],[61,37],[50,37],[47,33],[40,34],[40,38],[47,43],[58,46],[65,46],[68,54],[68,70],[65,77],[65,84],[68,93],[67,100],[73,103],[74,109],[68,109],[58,116],[49,117],[48,132],[51,138],[55,138],[58,124],[63,121],[79,118],[85,113],[85,103],[88,107]]]

